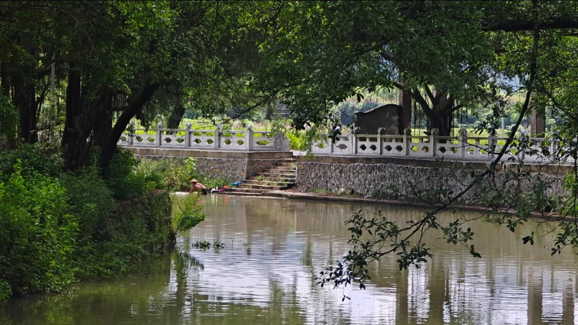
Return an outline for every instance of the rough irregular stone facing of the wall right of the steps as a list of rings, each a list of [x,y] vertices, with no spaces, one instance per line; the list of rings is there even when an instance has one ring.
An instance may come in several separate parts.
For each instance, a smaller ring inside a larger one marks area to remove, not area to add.
[[[431,166],[412,166],[411,164],[395,163],[338,163],[320,161],[299,161],[297,163],[297,184],[301,189],[327,189],[336,192],[344,188],[349,192],[351,189],[359,195],[374,195],[380,190],[388,195],[399,195],[402,198],[415,199],[416,192],[423,196],[424,193],[436,192],[436,190],[451,190],[459,193],[473,180],[475,174],[483,173],[483,169],[449,168],[448,163],[430,162]],[[423,164],[428,165],[428,164]],[[446,166],[444,168],[444,166]],[[495,183],[485,179],[475,188],[470,190],[460,203],[470,204],[480,196],[484,190],[491,189],[492,184],[501,184],[506,177],[507,171],[500,170],[495,173]],[[544,173],[531,173],[521,184],[517,184],[520,190],[531,188],[535,179],[540,176],[551,185],[549,193],[562,193],[562,176]],[[394,190],[391,190],[391,189]],[[435,198],[434,198],[435,200]]]

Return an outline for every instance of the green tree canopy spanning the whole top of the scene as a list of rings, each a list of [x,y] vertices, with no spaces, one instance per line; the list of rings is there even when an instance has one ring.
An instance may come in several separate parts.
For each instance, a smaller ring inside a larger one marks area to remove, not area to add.
[[[560,94],[569,79],[562,74],[572,73],[561,67],[573,64],[576,7],[573,1],[7,1],[0,5],[0,85],[18,112],[18,138],[27,142],[50,128],[37,119],[62,98],[64,121],[53,122],[64,123],[71,169],[87,164],[93,145],[106,165],[132,118],[150,124],[158,113],[170,114],[175,126],[186,105],[212,117],[281,99],[294,126],[303,128],[331,122],[346,99],[397,88],[423,110],[430,129],[449,135],[456,110],[481,105],[498,117],[509,96],[526,92],[533,28],[542,40],[543,94],[532,106],[542,98],[541,107],[552,107],[546,90]],[[51,68],[58,95],[51,92]]]

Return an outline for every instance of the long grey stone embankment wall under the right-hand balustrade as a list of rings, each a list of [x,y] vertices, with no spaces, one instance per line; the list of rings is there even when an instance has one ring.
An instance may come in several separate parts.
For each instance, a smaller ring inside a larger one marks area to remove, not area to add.
[[[355,194],[363,196],[397,196],[401,199],[415,200],[416,193],[417,196],[423,197],[439,190],[451,191],[455,195],[465,189],[476,174],[483,173],[488,167],[489,163],[486,162],[315,156],[298,159],[296,186],[301,189],[325,189],[332,192],[341,188],[347,192],[353,189]],[[549,194],[562,193],[562,178],[569,171],[566,169],[549,167],[531,171],[528,177],[520,184],[515,184],[514,188],[529,189],[540,177],[550,185],[547,190]],[[484,181],[468,191],[459,203],[475,203],[482,192],[487,193],[495,184],[503,184],[509,170],[513,170],[512,163],[501,163],[491,180],[484,178]],[[428,199],[438,201],[439,197]]]

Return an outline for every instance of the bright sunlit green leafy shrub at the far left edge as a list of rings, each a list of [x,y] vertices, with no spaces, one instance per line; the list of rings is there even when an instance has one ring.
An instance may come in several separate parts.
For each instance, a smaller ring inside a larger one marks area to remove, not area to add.
[[[14,169],[0,183],[0,277],[15,294],[56,292],[74,281],[76,218],[60,182]]]

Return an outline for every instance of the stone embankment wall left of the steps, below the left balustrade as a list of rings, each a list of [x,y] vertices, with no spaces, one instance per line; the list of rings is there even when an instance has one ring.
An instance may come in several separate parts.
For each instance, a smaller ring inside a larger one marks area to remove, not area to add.
[[[182,150],[175,148],[127,147],[135,155],[149,159],[197,159],[197,170],[211,177],[234,181],[262,173],[283,159],[292,158],[290,151],[225,151]]]

